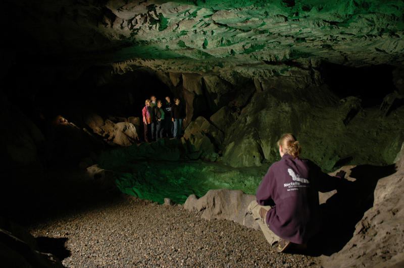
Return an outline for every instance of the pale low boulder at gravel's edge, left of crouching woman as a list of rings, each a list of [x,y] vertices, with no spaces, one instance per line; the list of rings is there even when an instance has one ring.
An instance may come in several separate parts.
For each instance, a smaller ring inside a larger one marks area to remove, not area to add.
[[[202,212],[206,220],[225,219],[237,222],[249,228],[259,228],[258,223],[247,214],[247,207],[256,196],[240,190],[209,190],[204,196],[196,198],[194,194],[186,199],[184,208]]]

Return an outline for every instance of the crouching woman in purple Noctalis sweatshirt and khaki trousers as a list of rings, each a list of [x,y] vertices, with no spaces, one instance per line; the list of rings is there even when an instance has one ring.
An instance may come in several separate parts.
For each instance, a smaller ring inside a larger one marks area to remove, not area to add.
[[[270,166],[247,211],[282,252],[292,244],[306,246],[320,230],[318,191],[335,189],[345,172],[332,177],[312,161],[299,159],[301,147],[291,133],[283,135],[278,146],[282,158]]]

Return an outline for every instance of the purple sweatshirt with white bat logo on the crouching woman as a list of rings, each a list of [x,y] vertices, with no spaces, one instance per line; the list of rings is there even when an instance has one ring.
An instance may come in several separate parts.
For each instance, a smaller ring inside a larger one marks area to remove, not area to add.
[[[309,160],[284,154],[257,189],[258,204],[272,206],[266,217],[269,229],[290,242],[307,243],[321,226],[318,191],[334,189],[337,180]]]

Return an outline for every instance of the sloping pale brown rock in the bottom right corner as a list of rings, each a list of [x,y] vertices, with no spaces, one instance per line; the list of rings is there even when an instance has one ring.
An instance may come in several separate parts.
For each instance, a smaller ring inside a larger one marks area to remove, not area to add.
[[[325,260],[329,267],[392,266],[404,259],[404,144],[396,173],[377,181],[374,202],[339,252]]]

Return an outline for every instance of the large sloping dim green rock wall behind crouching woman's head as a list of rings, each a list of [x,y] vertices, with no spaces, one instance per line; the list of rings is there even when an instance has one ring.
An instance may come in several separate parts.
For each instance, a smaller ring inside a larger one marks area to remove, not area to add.
[[[392,163],[404,138],[401,123],[396,123],[401,121],[398,114],[403,111],[398,108],[389,119],[382,118],[377,107],[364,109],[356,97],[338,102],[324,85],[256,92],[227,128],[223,162],[233,167],[274,162],[278,158],[277,139],[282,133],[293,132],[302,145],[302,157],[315,160],[327,171],[349,163]],[[228,116],[231,121],[233,115]],[[382,124],[383,131],[379,131]],[[361,146],[362,137],[368,134],[374,144]],[[341,146],[347,144],[350,146]],[[387,152],[391,146],[394,149]],[[375,151],[370,153],[368,149]]]

